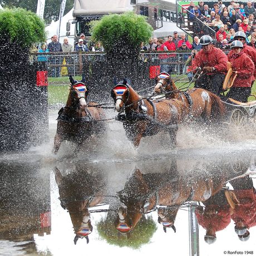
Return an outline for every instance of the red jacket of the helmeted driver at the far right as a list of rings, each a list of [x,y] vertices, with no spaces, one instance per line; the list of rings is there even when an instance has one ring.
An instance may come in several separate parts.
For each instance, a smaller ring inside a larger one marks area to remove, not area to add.
[[[230,52],[233,53],[233,51]],[[251,87],[254,73],[254,63],[252,59],[241,51],[238,55],[234,55],[234,53],[229,54],[228,61],[232,63],[233,71],[238,72],[233,87]]]

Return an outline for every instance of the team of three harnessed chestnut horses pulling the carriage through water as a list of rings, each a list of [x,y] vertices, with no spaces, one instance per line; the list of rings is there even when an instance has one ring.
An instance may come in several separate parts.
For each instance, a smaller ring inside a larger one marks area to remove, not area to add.
[[[84,81],[74,81],[70,77],[70,82],[67,104],[58,112],[54,154],[63,140],[75,142],[78,151],[88,137],[100,136],[106,130],[104,109],[96,103],[87,104]],[[165,72],[157,77],[155,93],[165,93],[165,97],[145,99],[125,79],[111,91],[118,112],[116,120],[123,122],[127,139],[135,147],[139,146],[142,137],[160,131],[168,132],[170,147],[175,147],[181,123],[193,119],[212,124],[224,114],[224,105],[218,96],[200,88],[178,90],[173,78]]]

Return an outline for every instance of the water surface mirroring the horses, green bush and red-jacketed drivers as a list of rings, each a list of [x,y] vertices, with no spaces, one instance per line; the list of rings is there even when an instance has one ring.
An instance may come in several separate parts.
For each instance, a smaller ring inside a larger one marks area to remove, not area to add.
[[[255,236],[252,156],[173,154],[105,163],[79,157],[46,166],[41,160],[1,163],[2,245],[27,241],[24,252],[51,255],[85,248],[117,255],[125,247],[127,254],[143,255],[167,252],[171,242],[176,255],[208,255],[209,248],[217,255],[223,236],[238,242]],[[51,212],[51,226],[49,218],[40,221]]]

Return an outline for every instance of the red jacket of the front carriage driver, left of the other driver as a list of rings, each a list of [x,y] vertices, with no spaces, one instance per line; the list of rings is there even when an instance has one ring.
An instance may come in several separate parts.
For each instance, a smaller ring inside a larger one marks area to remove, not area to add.
[[[226,73],[228,70],[228,57],[225,53],[219,48],[211,46],[210,51],[205,52],[201,49],[196,53],[192,70],[195,70],[196,67],[214,67],[215,72],[209,73],[209,75],[214,75],[217,73]],[[194,71],[195,73],[196,71]]]

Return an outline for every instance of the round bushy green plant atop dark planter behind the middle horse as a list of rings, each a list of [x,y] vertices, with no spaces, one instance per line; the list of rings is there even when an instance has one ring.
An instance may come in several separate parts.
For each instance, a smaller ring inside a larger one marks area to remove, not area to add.
[[[109,14],[92,23],[92,38],[101,41],[109,59],[136,60],[141,42],[148,42],[153,28],[146,17],[133,12]]]

